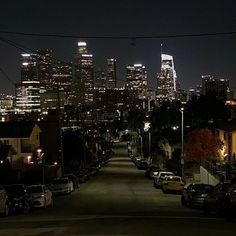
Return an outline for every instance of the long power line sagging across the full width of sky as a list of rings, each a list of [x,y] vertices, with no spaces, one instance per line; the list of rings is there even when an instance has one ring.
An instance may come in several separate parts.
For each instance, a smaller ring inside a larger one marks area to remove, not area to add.
[[[45,34],[45,33],[25,33],[20,31],[0,31],[1,34],[35,36],[35,37],[57,37],[57,38],[74,38],[74,39],[117,39],[117,40],[137,40],[137,39],[164,39],[164,38],[186,38],[186,37],[207,37],[207,36],[230,36],[235,35],[236,31],[213,32],[213,33],[196,33],[196,34],[169,34],[169,35],[136,35],[136,36],[99,36],[99,35],[70,35],[70,34]]]

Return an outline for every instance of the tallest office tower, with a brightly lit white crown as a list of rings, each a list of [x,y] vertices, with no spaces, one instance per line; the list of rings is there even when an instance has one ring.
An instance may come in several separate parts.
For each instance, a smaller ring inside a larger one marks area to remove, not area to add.
[[[93,103],[93,73],[93,55],[88,53],[86,42],[78,42],[78,52],[75,56],[73,70],[73,100],[75,105]]]

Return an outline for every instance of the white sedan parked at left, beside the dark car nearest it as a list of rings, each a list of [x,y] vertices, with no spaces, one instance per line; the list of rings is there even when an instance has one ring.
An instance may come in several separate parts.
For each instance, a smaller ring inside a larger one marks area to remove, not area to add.
[[[33,196],[34,207],[47,208],[53,205],[53,196],[51,190],[42,184],[30,185],[29,190]]]

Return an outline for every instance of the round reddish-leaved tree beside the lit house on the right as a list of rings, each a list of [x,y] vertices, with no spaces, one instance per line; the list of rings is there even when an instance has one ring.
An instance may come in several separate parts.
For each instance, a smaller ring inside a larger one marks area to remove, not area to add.
[[[213,161],[218,158],[222,147],[220,139],[216,138],[208,128],[198,128],[187,135],[184,148],[185,161],[200,164],[203,160]]]

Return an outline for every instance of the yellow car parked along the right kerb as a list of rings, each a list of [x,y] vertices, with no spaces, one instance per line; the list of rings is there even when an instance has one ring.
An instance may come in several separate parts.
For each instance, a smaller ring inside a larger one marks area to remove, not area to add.
[[[181,192],[184,188],[185,182],[180,176],[166,176],[162,182],[161,189],[163,193],[166,192]]]

